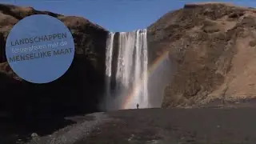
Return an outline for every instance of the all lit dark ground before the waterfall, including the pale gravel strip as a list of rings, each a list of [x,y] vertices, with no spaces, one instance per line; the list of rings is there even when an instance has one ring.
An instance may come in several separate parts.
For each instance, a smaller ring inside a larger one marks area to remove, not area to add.
[[[118,110],[69,118],[77,124],[30,144],[255,144],[256,105]],[[9,143],[7,143],[9,144]]]

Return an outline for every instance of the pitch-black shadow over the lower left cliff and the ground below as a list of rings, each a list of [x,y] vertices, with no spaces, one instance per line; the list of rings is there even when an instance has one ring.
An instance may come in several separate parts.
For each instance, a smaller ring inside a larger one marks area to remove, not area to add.
[[[62,78],[43,85],[0,72],[0,143],[27,142],[33,133],[49,135],[76,123],[79,115],[104,111],[99,106],[109,78],[83,58],[74,61]]]

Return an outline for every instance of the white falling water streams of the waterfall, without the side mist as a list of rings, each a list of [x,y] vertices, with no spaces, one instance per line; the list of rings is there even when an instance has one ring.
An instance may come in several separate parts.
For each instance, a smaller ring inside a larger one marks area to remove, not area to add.
[[[111,71],[113,70],[111,68],[113,58],[111,57],[113,55],[112,51],[114,50],[114,33],[110,33],[106,47],[106,75],[108,77],[114,77],[116,81],[114,90],[117,98],[115,99],[118,99],[118,102],[122,103],[127,101],[127,97],[130,97],[130,103],[126,104],[126,109],[135,108],[137,103],[140,107],[147,108],[149,107],[149,98],[147,86],[148,54],[146,30],[121,32],[117,40],[118,58],[116,58],[115,75]],[[108,93],[110,91],[110,82],[106,83],[106,89]]]

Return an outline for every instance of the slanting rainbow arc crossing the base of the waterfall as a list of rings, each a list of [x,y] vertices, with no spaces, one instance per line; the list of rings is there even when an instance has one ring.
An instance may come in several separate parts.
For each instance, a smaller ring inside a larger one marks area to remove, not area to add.
[[[153,64],[149,67],[149,69],[146,71],[147,77],[150,77],[151,74],[154,74],[154,71],[157,70],[158,66],[165,60],[165,58],[168,56],[169,52],[165,51],[163,54],[161,54],[158,58],[156,58],[153,62]],[[144,75],[144,74],[142,74]],[[122,102],[122,109],[127,109],[127,106],[129,106],[131,100],[134,98],[136,92],[140,87],[142,86],[143,82],[142,78],[139,82],[135,82],[134,87],[130,90],[130,93],[125,97],[125,100]]]

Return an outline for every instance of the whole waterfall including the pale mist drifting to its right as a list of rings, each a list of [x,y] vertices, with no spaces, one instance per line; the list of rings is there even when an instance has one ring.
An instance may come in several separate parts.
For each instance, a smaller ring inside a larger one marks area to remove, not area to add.
[[[106,43],[106,90],[102,110],[160,107],[170,82],[171,63],[166,54],[150,71],[146,29],[110,33]],[[154,63],[153,63],[154,65]]]

